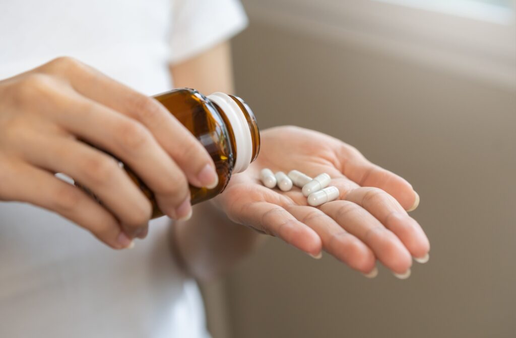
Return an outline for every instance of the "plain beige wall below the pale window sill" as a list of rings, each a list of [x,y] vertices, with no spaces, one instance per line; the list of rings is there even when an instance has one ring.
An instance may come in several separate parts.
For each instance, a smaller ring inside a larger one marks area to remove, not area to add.
[[[218,288],[225,330],[235,338],[516,335],[514,91],[256,22],[234,41],[234,61],[238,94],[261,128],[329,133],[407,178],[432,248],[408,280],[383,268],[368,280],[271,239]],[[209,307],[215,318],[217,305]]]

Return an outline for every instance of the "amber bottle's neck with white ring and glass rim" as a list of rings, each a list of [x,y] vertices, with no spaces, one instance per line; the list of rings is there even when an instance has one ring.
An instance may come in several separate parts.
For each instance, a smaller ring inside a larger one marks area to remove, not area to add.
[[[253,112],[239,97],[224,93],[207,96],[227,117],[235,140],[233,173],[241,173],[256,159],[260,151],[260,132]]]

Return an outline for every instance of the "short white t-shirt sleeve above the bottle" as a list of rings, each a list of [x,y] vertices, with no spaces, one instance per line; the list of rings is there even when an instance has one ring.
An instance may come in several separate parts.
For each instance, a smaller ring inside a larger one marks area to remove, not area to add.
[[[248,20],[238,0],[173,0],[170,63],[180,63],[231,39]]]

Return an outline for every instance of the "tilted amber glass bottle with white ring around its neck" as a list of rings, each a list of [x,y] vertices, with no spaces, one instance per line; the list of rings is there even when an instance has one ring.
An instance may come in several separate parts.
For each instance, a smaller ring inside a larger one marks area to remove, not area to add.
[[[260,132],[253,112],[237,96],[213,93],[207,97],[188,88],[154,96],[202,143],[215,162],[219,183],[213,189],[190,185],[191,204],[220,194],[233,173],[246,170],[260,150]],[[162,216],[154,194],[124,165],[125,171],[153,205],[152,217]],[[83,187],[87,191],[85,187]],[[101,201],[100,201],[101,202]]]

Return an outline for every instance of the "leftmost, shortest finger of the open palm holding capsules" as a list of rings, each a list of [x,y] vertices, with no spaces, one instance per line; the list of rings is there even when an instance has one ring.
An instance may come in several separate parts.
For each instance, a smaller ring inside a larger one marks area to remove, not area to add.
[[[276,204],[264,201],[248,202],[241,207],[238,215],[238,223],[279,237],[312,256],[320,254],[319,235]]]

